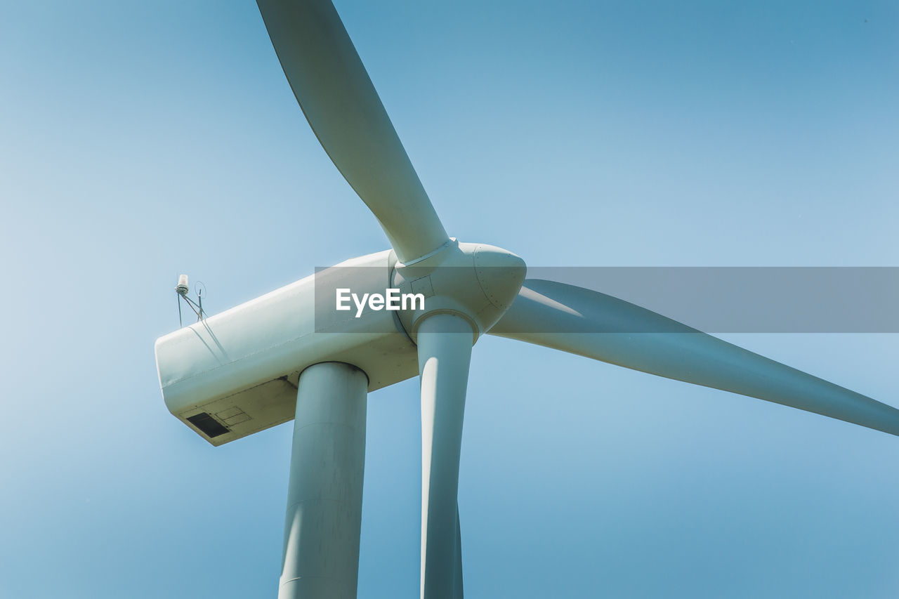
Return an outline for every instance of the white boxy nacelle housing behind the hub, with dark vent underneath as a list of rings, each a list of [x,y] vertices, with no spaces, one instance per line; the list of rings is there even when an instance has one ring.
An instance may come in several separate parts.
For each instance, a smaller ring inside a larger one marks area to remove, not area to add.
[[[384,293],[396,258],[354,258],[156,340],[169,411],[213,445],[294,416],[299,373],[346,362],[369,391],[418,374],[415,345],[396,312],[334,309],[335,290]]]

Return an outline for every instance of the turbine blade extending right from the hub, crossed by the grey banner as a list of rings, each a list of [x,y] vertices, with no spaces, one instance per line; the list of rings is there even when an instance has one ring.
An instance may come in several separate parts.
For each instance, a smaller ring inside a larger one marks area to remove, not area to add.
[[[899,410],[622,299],[528,279],[491,335],[899,435]]]

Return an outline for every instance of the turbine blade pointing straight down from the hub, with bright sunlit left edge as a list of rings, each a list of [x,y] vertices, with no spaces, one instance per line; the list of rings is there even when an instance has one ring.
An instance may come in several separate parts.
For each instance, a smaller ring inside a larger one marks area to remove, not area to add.
[[[472,340],[471,326],[449,314],[427,317],[418,329],[418,371],[422,383],[422,599],[462,596],[458,460]]]

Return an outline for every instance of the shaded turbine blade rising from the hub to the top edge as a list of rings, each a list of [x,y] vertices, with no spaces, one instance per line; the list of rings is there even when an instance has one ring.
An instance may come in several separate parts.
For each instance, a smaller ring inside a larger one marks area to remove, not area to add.
[[[330,0],[257,0],[297,101],[401,262],[447,242],[437,213]]]

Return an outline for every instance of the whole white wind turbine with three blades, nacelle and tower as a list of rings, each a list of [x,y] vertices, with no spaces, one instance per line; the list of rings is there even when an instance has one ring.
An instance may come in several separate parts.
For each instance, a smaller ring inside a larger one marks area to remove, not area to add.
[[[471,347],[500,335],[899,434],[899,410],[627,301],[526,279],[447,235],[329,0],[258,0],[310,126],[387,234],[360,256],[156,341],[169,410],[213,445],[294,418],[280,597],[356,595],[366,394],[418,375],[421,596],[462,596],[458,461]],[[335,306],[339,290],[423,306]]]

